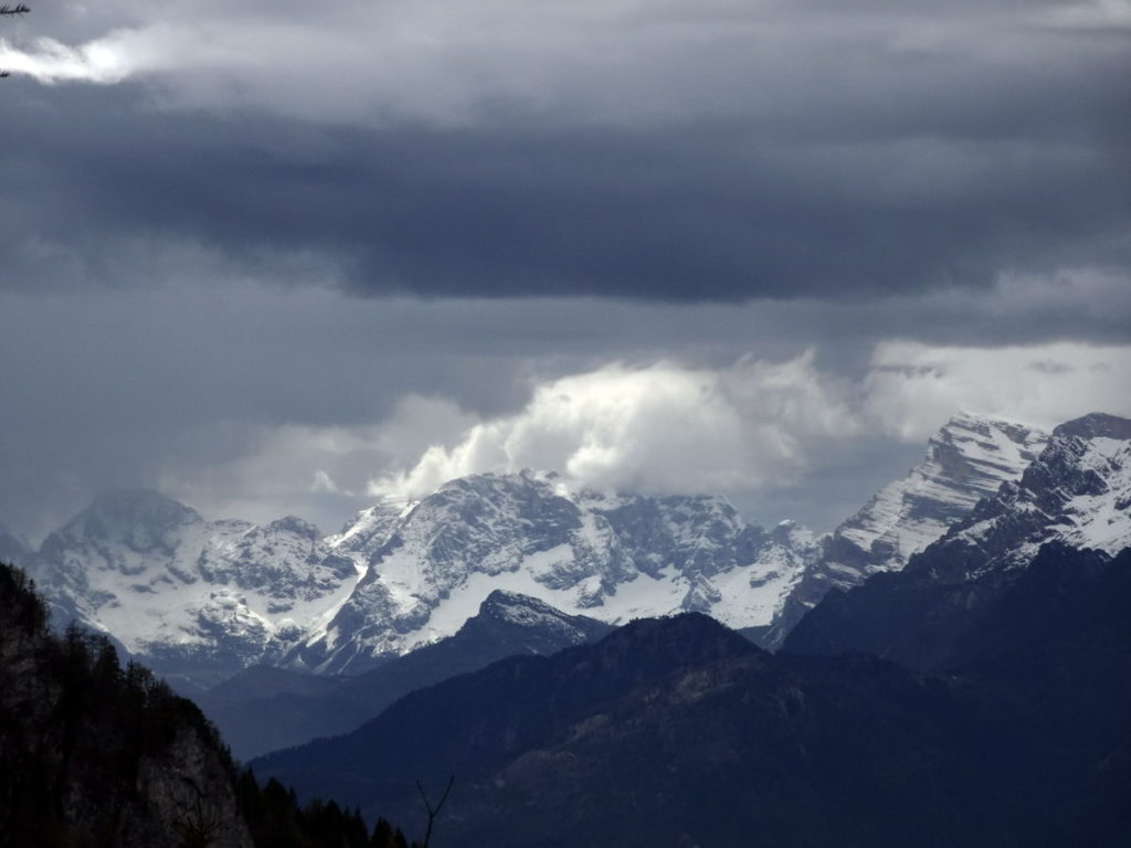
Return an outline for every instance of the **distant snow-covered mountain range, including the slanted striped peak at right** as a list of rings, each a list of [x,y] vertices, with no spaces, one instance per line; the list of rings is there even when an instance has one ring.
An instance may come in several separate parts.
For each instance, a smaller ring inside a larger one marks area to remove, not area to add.
[[[830,588],[898,570],[1047,435],[959,415],[924,461],[832,534],[745,521],[723,497],[571,491],[552,473],[475,475],[382,501],[338,534],[208,521],[152,492],[103,495],[25,565],[57,617],[199,691],[254,665],[360,674],[455,634],[502,589],[607,624],[701,612],[780,644]]]

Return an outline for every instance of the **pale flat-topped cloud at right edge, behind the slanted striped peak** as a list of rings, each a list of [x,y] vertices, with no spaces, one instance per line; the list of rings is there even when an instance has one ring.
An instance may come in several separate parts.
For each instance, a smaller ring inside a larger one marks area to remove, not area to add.
[[[1046,427],[1090,412],[1131,417],[1131,347],[877,345],[864,381],[875,430],[921,441],[959,409]]]

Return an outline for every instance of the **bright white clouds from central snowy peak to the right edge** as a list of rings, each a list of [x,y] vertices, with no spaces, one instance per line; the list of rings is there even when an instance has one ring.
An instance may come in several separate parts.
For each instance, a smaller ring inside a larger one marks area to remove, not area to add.
[[[430,445],[369,493],[420,497],[455,477],[523,468],[599,490],[772,490],[819,476],[821,449],[851,449],[864,433],[922,444],[960,409],[1046,427],[1091,409],[1126,415],[1131,398],[1115,386],[1131,386],[1131,347],[884,343],[856,386],[821,372],[812,352],[720,370],[613,365],[536,386],[519,413]]]

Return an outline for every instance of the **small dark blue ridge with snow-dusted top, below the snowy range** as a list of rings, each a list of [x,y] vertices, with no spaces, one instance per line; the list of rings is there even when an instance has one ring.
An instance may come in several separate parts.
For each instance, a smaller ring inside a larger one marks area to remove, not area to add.
[[[566,615],[523,595],[495,590],[455,635],[352,677],[253,666],[196,700],[249,759],[319,736],[346,733],[409,692],[504,657],[547,656],[596,641],[612,626]],[[270,716],[270,721],[264,721]]]

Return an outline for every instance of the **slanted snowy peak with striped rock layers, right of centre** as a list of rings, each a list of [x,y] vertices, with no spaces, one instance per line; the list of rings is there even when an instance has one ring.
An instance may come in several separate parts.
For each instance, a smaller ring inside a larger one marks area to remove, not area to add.
[[[762,643],[779,647],[830,589],[903,569],[981,499],[1020,478],[1047,441],[1046,432],[1002,418],[970,413],[951,418],[929,441],[923,462],[826,537],[822,555],[797,581]]]

